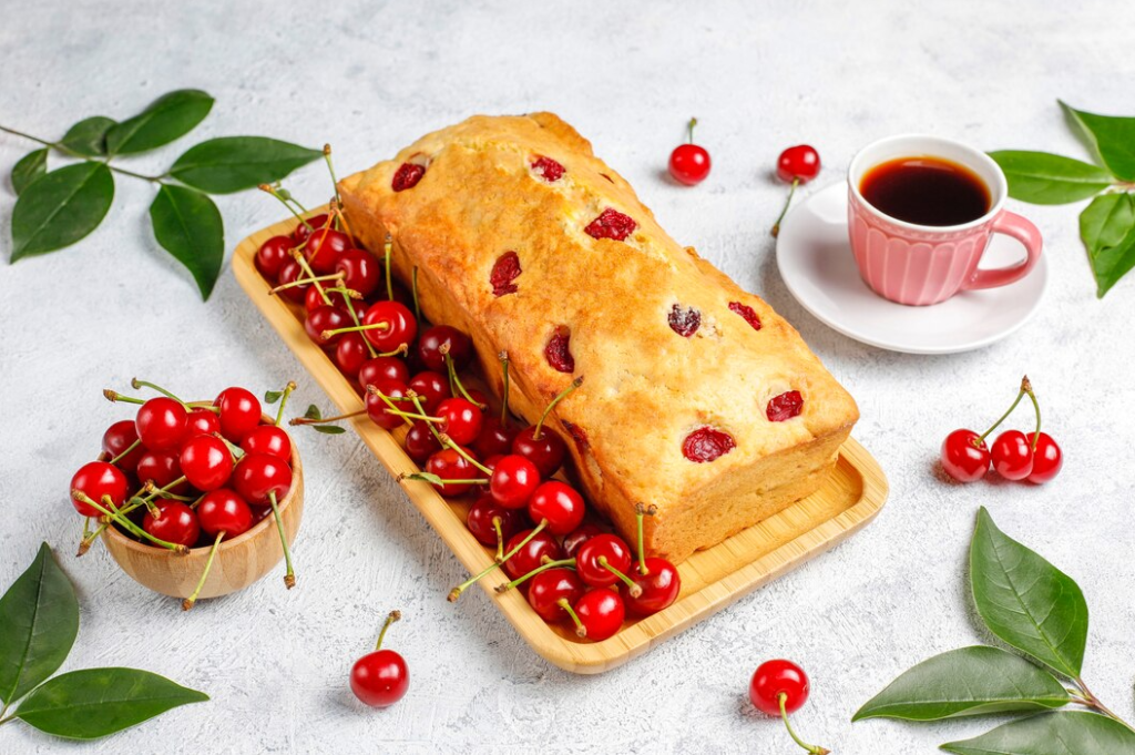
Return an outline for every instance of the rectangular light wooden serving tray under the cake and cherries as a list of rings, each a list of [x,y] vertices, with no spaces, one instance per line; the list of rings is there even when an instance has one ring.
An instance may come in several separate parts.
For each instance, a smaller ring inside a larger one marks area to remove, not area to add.
[[[255,268],[253,258],[260,245],[271,236],[288,235],[294,226],[294,220],[277,223],[241,242],[233,255],[233,274],[338,409],[344,413],[356,411],[363,406],[362,399],[331,359],[308,337],[300,319],[301,307],[270,296],[270,286]],[[365,414],[351,421],[359,437],[392,475],[419,471],[402,448],[404,427],[389,433]],[[402,486],[470,573],[493,563],[489,548],[465,528],[468,502],[446,501],[423,481],[404,480]],[[499,579],[486,578],[480,585],[539,655],[566,671],[600,673],[646,653],[840,543],[878,513],[886,494],[886,478],[878,463],[849,438],[819,490],[728,540],[695,553],[678,567],[682,592],[673,605],[646,619],[628,620],[617,635],[600,643],[578,638],[570,627],[545,623],[520,590],[497,595],[493,588]],[[439,593],[438,599],[445,599],[444,594]]]

